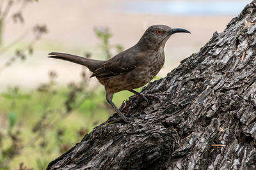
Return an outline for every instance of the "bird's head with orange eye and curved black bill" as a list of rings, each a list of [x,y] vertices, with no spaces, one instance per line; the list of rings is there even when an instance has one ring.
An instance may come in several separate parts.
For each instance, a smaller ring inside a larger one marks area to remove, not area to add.
[[[186,29],[172,29],[167,25],[152,25],[148,27],[143,36],[141,37],[139,43],[147,48],[160,48],[164,47],[166,41],[177,32],[190,33]]]

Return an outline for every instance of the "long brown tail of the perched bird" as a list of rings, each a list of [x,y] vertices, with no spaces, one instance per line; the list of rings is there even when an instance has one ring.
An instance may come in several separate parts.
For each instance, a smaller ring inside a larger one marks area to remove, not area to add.
[[[93,59],[88,59],[84,57],[79,57],[77,55],[71,55],[68,53],[58,53],[58,52],[51,52],[49,53],[50,58],[54,59],[61,59],[61,60],[68,60],[70,62],[75,62],[77,64],[81,64],[83,66],[88,67],[90,71],[94,72],[96,69],[98,69],[102,64],[104,64],[104,60],[93,60]]]

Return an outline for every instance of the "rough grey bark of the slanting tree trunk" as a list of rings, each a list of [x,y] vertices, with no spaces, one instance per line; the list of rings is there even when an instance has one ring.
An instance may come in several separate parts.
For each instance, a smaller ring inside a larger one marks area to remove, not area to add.
[[[143,89],[161,102],[123,104],[127,117],[142,118],[95,127],[47,169],[256,169],[255,22],[253,1]]]

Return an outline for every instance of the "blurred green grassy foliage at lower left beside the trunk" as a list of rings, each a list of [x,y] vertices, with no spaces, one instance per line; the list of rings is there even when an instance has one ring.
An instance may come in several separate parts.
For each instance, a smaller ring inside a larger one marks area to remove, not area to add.
[[[5,93],[7,97],[1,99],[0,111],[2,115],[7,115],[6,120],[10,122],[10,126],[0,129],[0,135],[5,136],[0,137],[5,143],[3,147],[0,146],[0,169],[14,169],[15,165],[10,165],[17,162],[17,159],[29,166],[42,169],[57,155],[66,152],[81,140],[86,132],[92,131],[95,125],[108,118],[108,110],[102,104],[105,102],[102,100],[102,91],[97,90],[97,94],[84,98],[83,101],[74,99],[74,106],[69,110],[67,101],[70,98],[70,88],[54,90],[54,87],[51,87],[44,91],[27,92],[19,90],[22,96],[29,94],[30,97],[15,97]],[[77,92],[76,96],[81,97],[83,94]],[[12,108],[13,101],[15,107]],[[12,111],[9,111],[11,108]],[[27,152],[35,157],[34,162],[27,161]]]

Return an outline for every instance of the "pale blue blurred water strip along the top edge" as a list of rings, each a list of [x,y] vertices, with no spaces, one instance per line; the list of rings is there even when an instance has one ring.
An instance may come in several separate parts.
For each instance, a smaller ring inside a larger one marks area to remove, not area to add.
[[[127,13],[151,13],[162,15],[238,15],[250,1],[129,1],[121,6]]]

